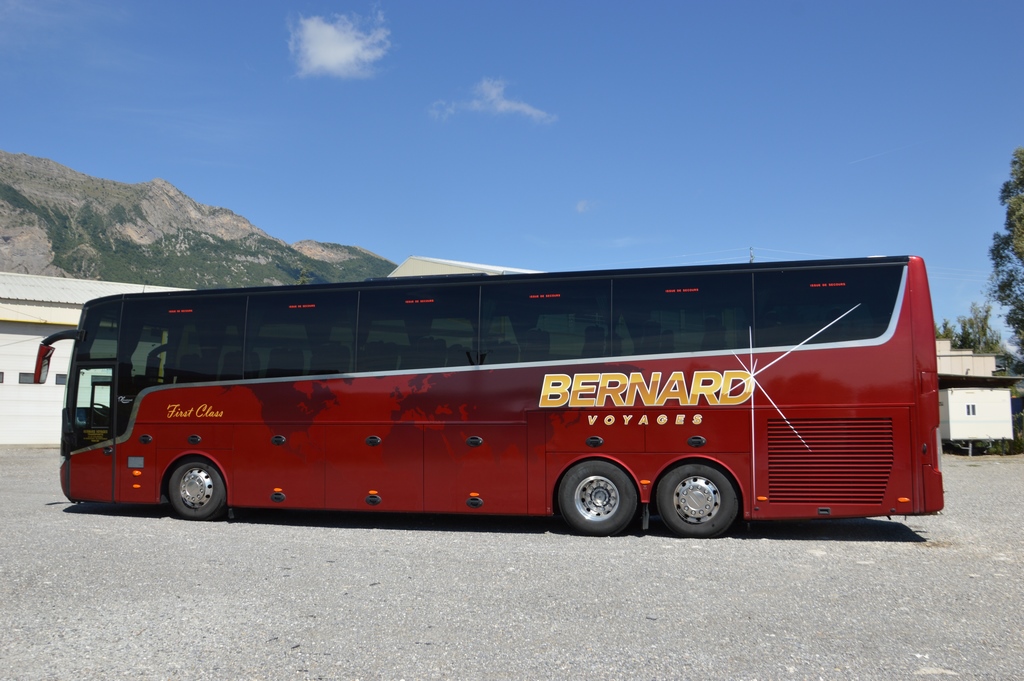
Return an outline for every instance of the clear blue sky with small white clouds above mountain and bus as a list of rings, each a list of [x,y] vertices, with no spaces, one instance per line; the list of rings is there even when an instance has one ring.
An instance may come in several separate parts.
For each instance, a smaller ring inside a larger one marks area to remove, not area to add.
[[[1024,145],[1022,25],[1019,1],[0,0],[0,148],[395,262],[919,254],[953,318]]]

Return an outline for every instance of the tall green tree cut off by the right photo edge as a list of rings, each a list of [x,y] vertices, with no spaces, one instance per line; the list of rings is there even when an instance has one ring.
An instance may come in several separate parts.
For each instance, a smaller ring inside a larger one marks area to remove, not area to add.
[[[1018,348],[1015,364],[1020,367],[1024,349],[1024,146],[1014,151],[999,204],[1007,207],[1007,221],[1002,231],[992,235],[988,251],[992,259],[989,294],[1007,309],[1007,325]]]

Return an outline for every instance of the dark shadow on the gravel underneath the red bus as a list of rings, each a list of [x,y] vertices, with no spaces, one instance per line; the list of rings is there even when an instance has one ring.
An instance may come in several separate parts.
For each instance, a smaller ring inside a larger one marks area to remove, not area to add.
[[[83,502],[69,504],[69,514],[124,518],[174,518],[163,505],[130,506]],[[189,522],[180,520],[180,522]],[[559,516],[509,516],[436,513],[367,513],[355,511],[304,511],[284,509],[233,509],[230,523],[287,527],[338,529],[380,529],[393,531],[443,531],[507,535],[574,535]],[[202,524],[202,523],[200,523]],[[679,539],[660,519],[651,516],[646,530],[639,519],[621,537]],[[724,536],[738,540],[779,540],[798,542],[891,542],[927,543],[929,540],[899,520],[885,518],[837,518],[827,520],[773,520],[738,522]]]

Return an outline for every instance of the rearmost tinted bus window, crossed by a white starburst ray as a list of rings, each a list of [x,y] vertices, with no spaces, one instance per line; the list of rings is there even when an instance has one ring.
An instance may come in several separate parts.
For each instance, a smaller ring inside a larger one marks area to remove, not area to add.
[[[902,276],[902,265],[757,272],[755,343],[877,338],[889,327]]]

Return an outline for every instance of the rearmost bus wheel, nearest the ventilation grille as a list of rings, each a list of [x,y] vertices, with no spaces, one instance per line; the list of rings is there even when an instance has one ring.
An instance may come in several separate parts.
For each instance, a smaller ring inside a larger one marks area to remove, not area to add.
[[[657,512],[669,529],[687,538],[725,534],[736,520],[739,498],[729,477],[705,464],[683,464],[657,483]]]

